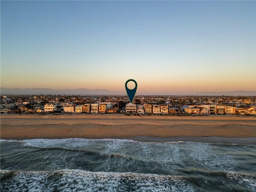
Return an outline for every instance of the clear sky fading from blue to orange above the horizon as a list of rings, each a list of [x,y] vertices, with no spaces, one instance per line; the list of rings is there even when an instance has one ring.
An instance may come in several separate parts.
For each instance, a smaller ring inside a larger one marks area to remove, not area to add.
[[[256,1],[1,0],[0,11],[4,88],[256,90]]]

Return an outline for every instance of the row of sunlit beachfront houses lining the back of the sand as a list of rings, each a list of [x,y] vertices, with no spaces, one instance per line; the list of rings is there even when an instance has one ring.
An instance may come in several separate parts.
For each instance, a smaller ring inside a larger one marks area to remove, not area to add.
[[[19,107],[20,112],[66,112],[66,113],[116,113],[118,108],[113,107],[111,102],[104,103],[94,103],[94,104],[84,104],[75,105],[67,102],[64,103],[48,103],[44,106],[35,106],[33,109],[28,109],[25,106]],[[12,112],[12,110],[3,108],[1,112]],[[125,108],[121,111],[127,114],[177,114],[180,113],[179,108],[170,107],[165,104],[126,104]],[[256,114],[256,106],[244,106],[244,108],[239,108],[236,106],[229,105],[184,105],[182,106],[182,112],[188,114]]]

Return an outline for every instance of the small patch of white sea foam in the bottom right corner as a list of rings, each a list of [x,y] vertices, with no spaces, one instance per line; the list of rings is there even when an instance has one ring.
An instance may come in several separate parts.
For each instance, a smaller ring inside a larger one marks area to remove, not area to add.
[[[245,184],[250,190],[256,191],[256,176],[230,171],[227,174],[227,178],[239,184]]]

